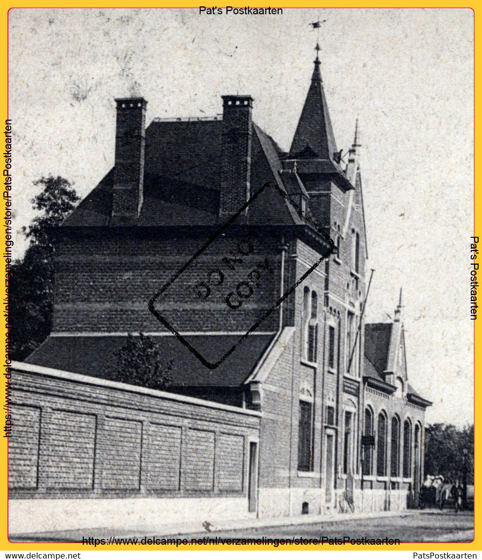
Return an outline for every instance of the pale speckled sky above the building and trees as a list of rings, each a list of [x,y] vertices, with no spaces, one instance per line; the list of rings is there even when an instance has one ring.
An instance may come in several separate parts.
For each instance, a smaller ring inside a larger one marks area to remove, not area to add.
[[[400,287],[409,379],[427,422],[472,422],[469,248],[473,223],[473,14],[466,9],[10,11],[16,230],[32,181],[62,175],[84,197],[114,163],[114,97],[156,116],[222,112],[254,97],[254,120],[287,150],[313,68],[316,31],[338,149],[362,132],[368,321],[393,317]],[[25,248],[16,237],[16,255]],[[482,320],[482,316],[479,320]]]

